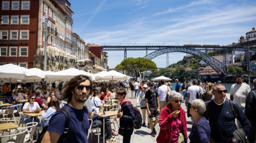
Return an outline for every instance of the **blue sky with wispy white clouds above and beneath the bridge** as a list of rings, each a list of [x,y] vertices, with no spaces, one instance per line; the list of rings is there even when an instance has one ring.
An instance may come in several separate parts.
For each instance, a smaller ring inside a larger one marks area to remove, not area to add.
[[[256,0],[69,0],[72,32],[86,43],[105,45],[184,45],[238,42],[256,25]],[[109,68],[124,51],[107,51]],[[153,51],[148,51],[151,53]],[[144,57],[146,51],[127,51]],[[185,53],[169,53],[169,64]],[[166,54],[154,58],[166,67]]]

